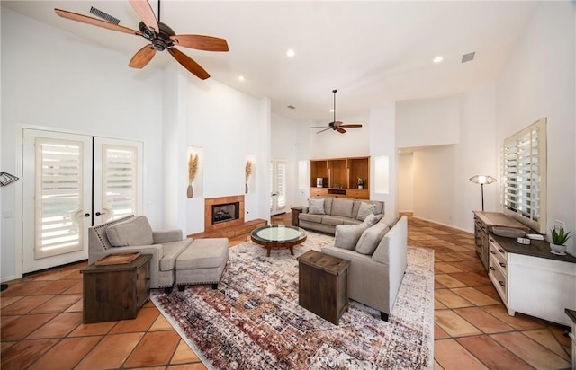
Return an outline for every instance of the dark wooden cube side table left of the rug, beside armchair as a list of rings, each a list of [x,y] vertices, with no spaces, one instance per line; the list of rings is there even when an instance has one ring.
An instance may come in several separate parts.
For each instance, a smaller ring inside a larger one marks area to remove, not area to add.
[[[121,265],[81,269],[84,280],[84,313],[82,322],[113,322],[136,318],[139,308],[148,301],[150,260],[142,254]]]

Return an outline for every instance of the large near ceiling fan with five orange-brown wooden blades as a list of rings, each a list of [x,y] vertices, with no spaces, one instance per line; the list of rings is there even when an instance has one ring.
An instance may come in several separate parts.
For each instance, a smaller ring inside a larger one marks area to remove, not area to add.
[[[148,0],[129,1],[130,5],[132,5],[132,8],[134,8],[134,11],[138,13],[139,18],[142,20],[139,22],[139,31],[118,25],[119,21],[117,20],[116,22],[103,21],[97,18],[89,17],[87,15],[72,13],[62,9],[54,9],[54,12],[56,12],[60,17],[67,18],[72,21],[92,24],[93,26],[103,27],[112,31],[130,33],[132,35],[142,36],[144,39],[148,40],[150,44],[144,48],[140,48],[139,51],[130,60],[129,66],[132,68],[143,68],[144,66],[148,65],[148,62],[152,60],[152,57],[156,55],[157,51],[163,51],[167,49],[168,53],[193,75],[196,75],[202,80],[210,77],[208,72],[206,72],[202,66],[193,61],[191,57],[188,57],[182,51],[175,48],[175,46],[177,45],[184,48],[196,48],[198,50],[206,51],[228,51],[228,43],[226,40],[203,35],[176,35],[175,31],[173,31],[165,23],[160,22],[159,0],[158,19],[156,19],[156,15],[148,3]],[[115,20],[115,18],[106,13],[101,11],[97,12],[103,14],[104,19]]]

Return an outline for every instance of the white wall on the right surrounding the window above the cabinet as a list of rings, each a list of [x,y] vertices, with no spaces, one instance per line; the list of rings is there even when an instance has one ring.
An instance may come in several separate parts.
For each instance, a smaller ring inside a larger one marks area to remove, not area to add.
[[[548,119],[548,228],[576,231],[576,7],[543,2],[496,83],[496,140]],[[576,254],[575,238],[568,242]]]

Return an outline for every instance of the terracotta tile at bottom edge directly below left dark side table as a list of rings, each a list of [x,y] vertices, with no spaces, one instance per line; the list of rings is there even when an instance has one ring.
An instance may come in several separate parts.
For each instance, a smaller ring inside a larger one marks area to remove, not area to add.
[[[76,369],[120,368],[143,336],[143,332],[107,335],[84,357]]]

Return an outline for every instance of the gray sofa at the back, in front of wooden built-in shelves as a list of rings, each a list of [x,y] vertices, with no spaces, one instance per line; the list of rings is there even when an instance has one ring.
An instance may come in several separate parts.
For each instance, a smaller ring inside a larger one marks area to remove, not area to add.
[[[320,203],[323,203],[322,207],[320,207]],[[369,209],[371,206],[366,205],[372,205],[374,208]],[[337,225],[362,224],[365,216],[370,213],[382,218],[384,202],[318,197],[309,199],[308,207],[304,207],[302,213],[298,215],[298,223],[304,229],[333,234],[336,232]]]

